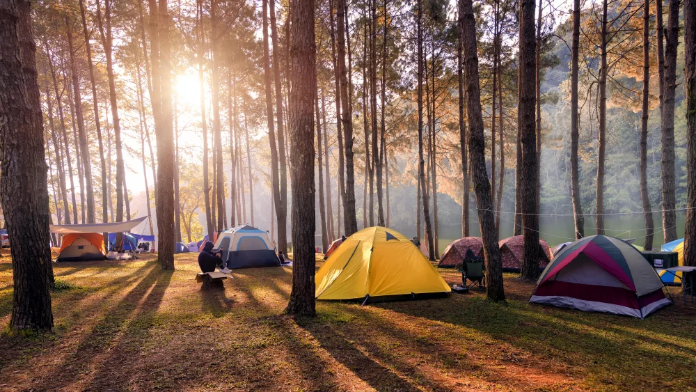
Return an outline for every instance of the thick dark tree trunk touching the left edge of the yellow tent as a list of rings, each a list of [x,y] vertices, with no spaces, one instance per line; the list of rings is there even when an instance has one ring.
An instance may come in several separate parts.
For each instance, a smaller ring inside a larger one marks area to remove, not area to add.
[[[292,291],[285,312],[315,316],[314,119],[316,52],[314,0],[290,1],[290,144],[292,178]],[[297,152],[297,153],[295,153]]]

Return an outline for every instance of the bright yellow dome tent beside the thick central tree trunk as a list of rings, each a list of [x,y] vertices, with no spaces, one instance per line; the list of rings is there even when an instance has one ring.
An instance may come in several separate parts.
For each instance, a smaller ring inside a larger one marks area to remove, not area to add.
[[[358,231],[341,244],[315,276],[317,299],[367,299],[450,292],[420,249],[383,227]]]

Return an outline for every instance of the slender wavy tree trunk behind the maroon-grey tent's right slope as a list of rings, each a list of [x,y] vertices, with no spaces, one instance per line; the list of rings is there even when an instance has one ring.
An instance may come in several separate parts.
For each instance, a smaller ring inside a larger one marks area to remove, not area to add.
[[[643,9],[643,105],[640,121],[640,201],[643,205],[645,221],[644,249],[652,249],[654,221],[648,194],[648,105],[650,98],[650,0],[645,0]]]

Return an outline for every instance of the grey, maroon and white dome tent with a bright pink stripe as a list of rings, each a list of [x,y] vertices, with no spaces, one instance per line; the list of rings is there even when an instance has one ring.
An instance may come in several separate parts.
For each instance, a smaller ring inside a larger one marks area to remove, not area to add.
[[[604,235],[560,251],[537,281],[530,302],[643,318],[672,304],[638,249]]]

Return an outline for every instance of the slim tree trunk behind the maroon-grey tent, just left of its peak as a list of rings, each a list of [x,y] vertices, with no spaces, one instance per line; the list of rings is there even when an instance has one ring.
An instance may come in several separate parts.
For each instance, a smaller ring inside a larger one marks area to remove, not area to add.
[[[660,0],[658,0],[660,1]],[[575,222],[575,238],[585,237],[585,216],[580,201],[580,167],[578,164],[578,139],[580,116],[578,114],[578,74],[580,71],[580,0],[573,0],[573,42],[571,53],[571,130],[570,130],[570,183]]]

